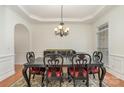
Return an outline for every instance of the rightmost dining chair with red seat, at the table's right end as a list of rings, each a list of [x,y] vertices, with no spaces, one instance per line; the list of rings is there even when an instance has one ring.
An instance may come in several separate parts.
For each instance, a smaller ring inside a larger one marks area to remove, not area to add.
[[[95,63],[100,63],[102,62],[103,59],[103,54],[100,51],[94,51],[92,55],[92,61]],[[97,66],[91,67],[90,69],[90,74],[93,74],[93,77],[95,78],[95,74],[98,74],[100,69]]]

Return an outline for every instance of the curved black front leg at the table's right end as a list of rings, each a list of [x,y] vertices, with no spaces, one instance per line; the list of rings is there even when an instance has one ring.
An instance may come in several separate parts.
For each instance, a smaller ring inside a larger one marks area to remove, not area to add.
[[[105,67],[100,67],[101,71],[99,71],[98,73],[98,78],[99,78],[99,86],[102,87],[102,81],[105,77],[105,74],[106,74],[106,69]]]

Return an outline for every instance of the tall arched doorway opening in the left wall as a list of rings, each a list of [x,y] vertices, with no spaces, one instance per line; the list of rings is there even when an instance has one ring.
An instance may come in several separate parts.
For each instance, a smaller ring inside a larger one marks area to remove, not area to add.
[[[26,52],[29,51],[29,31],[23,24],[15,25],[15,64],[26,63]]]

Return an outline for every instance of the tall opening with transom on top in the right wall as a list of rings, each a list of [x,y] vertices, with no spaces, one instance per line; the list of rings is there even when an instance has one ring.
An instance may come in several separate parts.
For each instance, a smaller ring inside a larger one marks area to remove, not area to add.
[[[109,32],[108,23],[105,23],[98,27],[97,50],[103,53],[103,63],[105,67],[109,67],[108,32]]]

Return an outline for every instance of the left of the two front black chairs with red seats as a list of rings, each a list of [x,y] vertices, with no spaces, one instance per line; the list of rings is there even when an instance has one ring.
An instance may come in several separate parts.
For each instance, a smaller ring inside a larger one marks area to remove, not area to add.
[[[50,80],[59,80],[61,86],[63,57],[60,54],[48,54],[44,56],[43,62],[46,66],[46,86]]]

